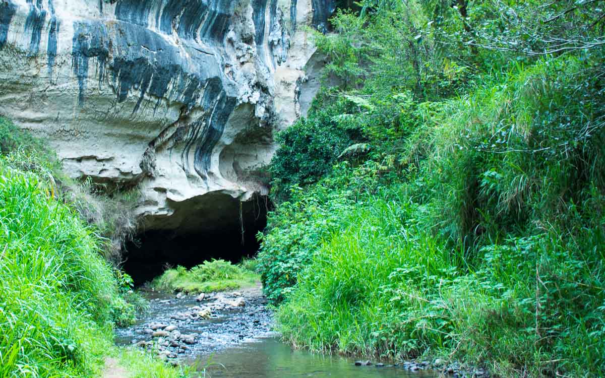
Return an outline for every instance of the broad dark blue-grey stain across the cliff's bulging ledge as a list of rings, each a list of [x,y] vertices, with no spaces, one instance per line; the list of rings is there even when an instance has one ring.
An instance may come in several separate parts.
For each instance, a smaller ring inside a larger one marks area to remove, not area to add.
[[[124,102],[130,91],[139,91],[133,112],[139,110],[146,94],[157,98],[156,106],[162,98],[170,97],[191,109],[198,102],[198,90],[203,82],[220,76],[214,56],[191,53],[190,57],[183,57],[181,51],[160,34],[128,22],[108,25],[77,22],[74,29],[77,30],[73,45],[76,75],[85,80],[88,59],[97,57],[102,73],[99,80],[103,79],[105,65],[108,65],[117,88],[117,102]],[[110,35],[120,36],[111,40],[111,51]],[[113,59],[107,61],[110,55]],[[82,82],[80,89],[84,88]],[[82,95],[80,93],[80,97]]]

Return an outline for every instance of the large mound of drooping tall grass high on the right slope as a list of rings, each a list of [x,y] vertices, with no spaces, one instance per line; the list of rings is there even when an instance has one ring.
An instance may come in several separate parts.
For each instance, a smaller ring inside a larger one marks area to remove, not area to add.
[[[590,187],[605,187],[598,67],[576,57],[546,59],[445,103],[422,167],[440,194],[433,226],[469,242],[528,223],[571,224],[570,206],[588,200]],[[603,204],[592,204],[602,212]]]

